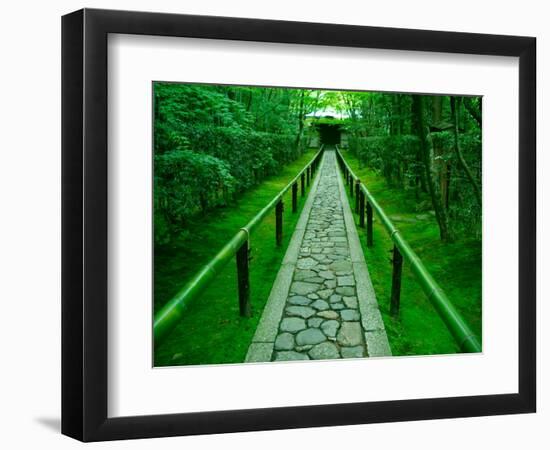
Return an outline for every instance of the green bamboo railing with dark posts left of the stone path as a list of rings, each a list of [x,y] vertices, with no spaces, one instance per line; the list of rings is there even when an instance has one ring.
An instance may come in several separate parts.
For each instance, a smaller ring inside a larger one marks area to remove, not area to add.
[[[275,241],[279,246],[283,239],[283,196],[292,190],[292,212],[298,210],[298,184],[301,195],[305,196],[306,186],[313,181],[313,175],[319,167],[323,146],[315,156],[304,166],[290,183],[258,213],[250,222],[241,228],[214,256],[208,264],[202,267],[196,275],[174,296],[163,308],[155,314],[153,323],[154,342],[156,345],[166,337],[178,324],[187,305],[194,300],[216,278],[229,261],[236,256],[237,283],[239,291],[239,311],[242,316],[250,316],[249,290],[249,240],[250,234],[262,220],[275,209]]]

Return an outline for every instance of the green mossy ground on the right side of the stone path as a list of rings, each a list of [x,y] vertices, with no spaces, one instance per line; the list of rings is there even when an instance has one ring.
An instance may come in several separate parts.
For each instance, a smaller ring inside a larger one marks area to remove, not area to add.
[[[353,155],[344,152],[344,157],[481,341],[481,242],[470,236],[457,236],[452,243],[441,242],[435,217],[418,211],[420,205],[429,204],[428,197],[417,200],[412,190],[389,187],[381,176],[362,167]],[[355,204],[351,198],[350,202]],[[393,243],[376,216],[372,248],[367,248],[366,234],[358,230],[393,354],[459,352],[406,263],[399,317],[389,315]]]

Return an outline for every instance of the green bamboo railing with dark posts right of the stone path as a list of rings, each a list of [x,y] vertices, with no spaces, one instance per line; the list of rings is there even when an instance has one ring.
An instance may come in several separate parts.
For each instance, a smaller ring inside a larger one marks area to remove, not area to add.
[[[422,263],[421,259],[414,252],[399,230],[394,226],[382,207],[369,192],[367,187],[353,173],[348,163],[342,156],[340,149],[336,146],[336,155],[340,169],[344,176],[350,195],[355,196],[355,212],[359,214],[359,225],[364,226],[366,214],[367,247],[373,245],[372,218],[373,211],[376,212],[382,225],[393,241],[393,275],[392,293],[390,303],[390,314],[397,315],[399,311],[401,292],[401,270],[403,259],[409,263],[411,271],[419,282],[422,290],[428,296],[429,301],[451,332],[459,348],[464,352],[481,352],[481,345],[477,336],[472,332],[464,318],[457,311],[449,300],[443,289],[437,284]]]

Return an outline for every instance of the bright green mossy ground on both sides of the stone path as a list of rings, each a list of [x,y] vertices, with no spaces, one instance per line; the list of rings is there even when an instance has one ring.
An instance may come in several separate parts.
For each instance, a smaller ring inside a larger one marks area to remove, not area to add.
[[[186,233],[155,249],[154,305],[158,311],[185,282],[258,213],[313,157],[310,150],[243,194],[237,204],[198,217]],[[481,242],[456,236],[452,243],[439,239],[435,218],[419,211],[414,191],[392,188],[352,155],[346,161],[392,218],[432,276],[481,339]],[[308,191],[309,192],[309,191]],[[305,198],[299,196],[298,213],[285,197],[284,241],[275,245],[275,214],[252,233],[250,286],[252,317],[239,316],[236,266],[230,262],[214,282],[192,302],[173,332],[155,348],[155,366],[240,363],[256,330],[273,281],[279,270]],[[350,198],[351,205],[354,200]],[[357,223],[358,218],[356,217]],[[403,268],[399,316],[389,315],[392,265],[391,240],[375,219],[374,246],[359,236],[394,355],[429,355],[458,352],[453,337],[426,298],[407,264]]]

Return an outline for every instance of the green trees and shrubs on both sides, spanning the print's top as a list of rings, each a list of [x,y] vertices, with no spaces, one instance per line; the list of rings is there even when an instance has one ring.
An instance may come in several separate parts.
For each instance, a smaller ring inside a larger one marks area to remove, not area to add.
[[[481,98],[154,84],[155,239],[300,156],[318,124],[391,186],[414,190],[442,240],[481,234]]]

